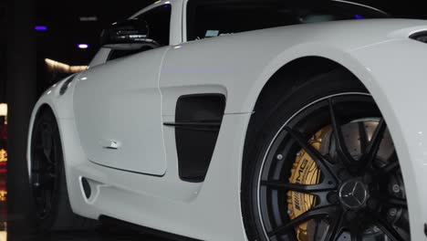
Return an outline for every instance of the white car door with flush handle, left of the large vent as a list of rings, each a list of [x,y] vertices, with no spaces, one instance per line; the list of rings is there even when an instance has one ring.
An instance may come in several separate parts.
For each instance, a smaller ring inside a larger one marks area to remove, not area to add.
[[[136,173],[166,172],[158,83],[167,49],[109,61],[76,79],[76,125],[90,162]]]

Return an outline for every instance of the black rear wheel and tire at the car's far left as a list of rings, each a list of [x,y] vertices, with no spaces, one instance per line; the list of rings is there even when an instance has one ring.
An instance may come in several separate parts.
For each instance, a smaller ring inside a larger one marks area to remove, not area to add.
[[[98,221],[72,212],[57,121],[49,109],[41,110],[34,123],[30,185],[31,213],[37,233],[81,231],[98,226]]]

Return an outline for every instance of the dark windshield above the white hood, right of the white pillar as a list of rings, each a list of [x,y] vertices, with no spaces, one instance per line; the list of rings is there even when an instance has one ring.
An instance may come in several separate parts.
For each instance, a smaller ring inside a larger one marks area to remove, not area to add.
[[[187,41],[275,26],[383,18],[387,14],[344,1],[190,0]]]

